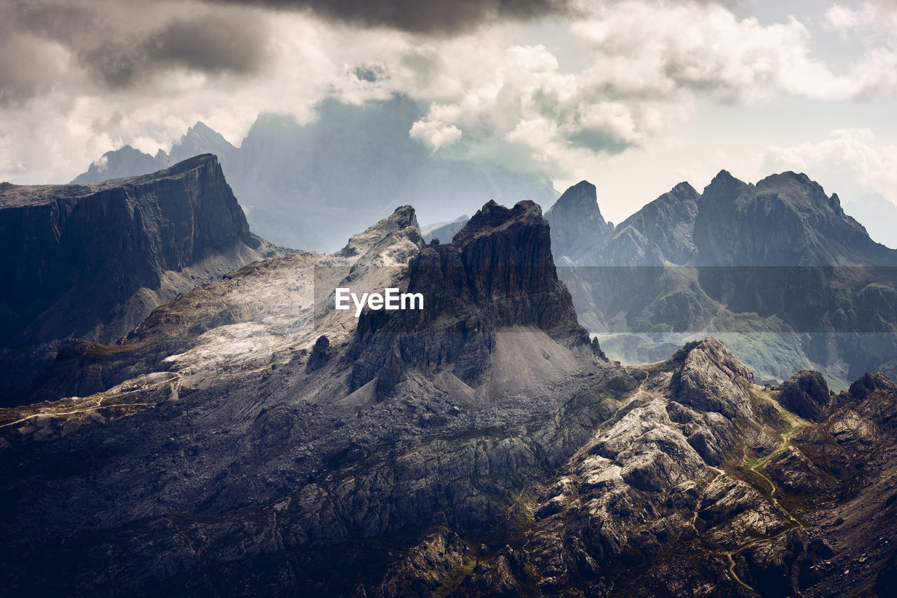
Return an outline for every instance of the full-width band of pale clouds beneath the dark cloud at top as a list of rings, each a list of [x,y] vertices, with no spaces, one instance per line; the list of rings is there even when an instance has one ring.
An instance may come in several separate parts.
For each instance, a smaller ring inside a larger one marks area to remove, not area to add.
[[[109,0],[38,0],[31,5],[43,12],[28,18],[0,9],[0,21],[22,23],[0,41],[0,180],[67,180],[120,145],[168,147],[198,119],[239,144],[259,112],[307,121],[326,97],[392,93],[427,110],[409,135],[434,150],[564,179],[596,156],[673,134],[695,118],[698,99],[840,101],[897,90],[884,34],[835,72],[795,18],[738,19],[713,2],[573,4],[577,17],[551,25],[553,43],[516,22],[433,36],[193,0],[158,0],[140,19],[140,4]],[[875,10],[880,26],[894,12],[883,5],[832,6],[814,18],[852,31]],[[115,32],[106,45],[102,31]],[[128,39],[143,54],[125,51]]]

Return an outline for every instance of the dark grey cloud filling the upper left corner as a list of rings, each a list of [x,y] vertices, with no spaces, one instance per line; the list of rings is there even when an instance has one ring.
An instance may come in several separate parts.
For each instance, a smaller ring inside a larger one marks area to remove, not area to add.
[[[27,100],[81,67],[89,84],[131,87],[171,67],[247,74],[265,61],[257,15],[200,4],[106,0],[0,3],[0,103]],[[74,64],[73,64],[74,63]]]

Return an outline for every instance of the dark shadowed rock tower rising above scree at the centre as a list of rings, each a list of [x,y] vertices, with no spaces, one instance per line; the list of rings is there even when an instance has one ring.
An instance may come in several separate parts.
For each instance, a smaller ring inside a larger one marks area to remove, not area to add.
[[[350,355],[350,386],[378,377],[390,391],[405,365],[437,372],[452,364],[465,383],[489,368],[494,332],[534,327],[568,346],[588,346],[570,293],[554,269],[548,224],[532,201],[513,208],[490,201],[451,243],[431,243],[411,260],[409,293],[417,312],[365,312]]]

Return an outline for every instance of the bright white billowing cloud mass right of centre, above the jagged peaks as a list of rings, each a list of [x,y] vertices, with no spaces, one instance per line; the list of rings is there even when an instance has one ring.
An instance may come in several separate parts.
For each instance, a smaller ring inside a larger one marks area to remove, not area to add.
[[[415,135],[454,126],[449,139],[471,154],[558,174],[585,154],[644,147],[691,119],[699,97],[739,103],[862,92],[860,82],[814,59],[810,33],[796,19],[762,25],[718,3],[599,3],[570,25],[570,36],[585,63],[572,72],[541,44],[467,38],[416,48],[421,64],[397,89],[438,99]]]

